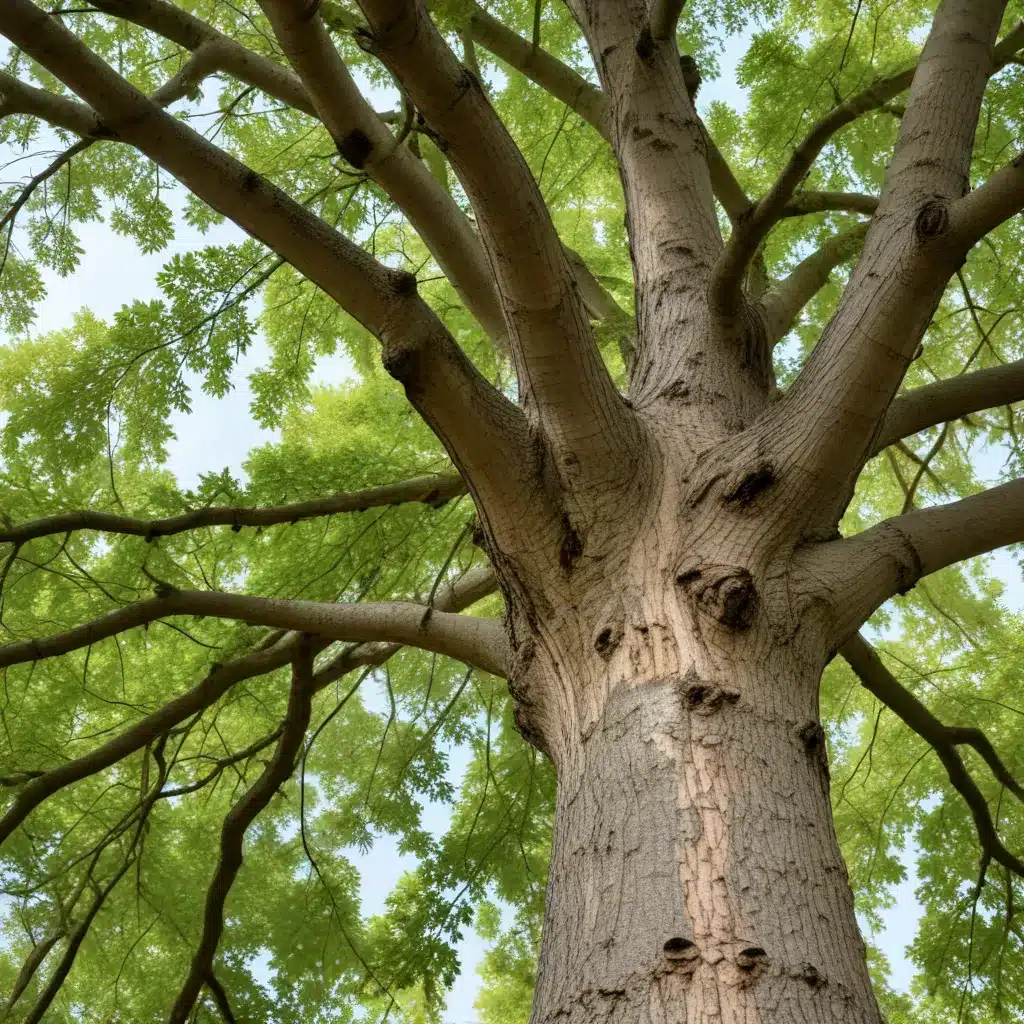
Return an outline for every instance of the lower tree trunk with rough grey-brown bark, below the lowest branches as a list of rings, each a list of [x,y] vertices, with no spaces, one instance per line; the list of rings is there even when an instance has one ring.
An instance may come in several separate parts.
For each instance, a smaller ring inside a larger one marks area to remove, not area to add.
[[[532,1024],[880,1020],[793,647],[620,679],[566,737]]]

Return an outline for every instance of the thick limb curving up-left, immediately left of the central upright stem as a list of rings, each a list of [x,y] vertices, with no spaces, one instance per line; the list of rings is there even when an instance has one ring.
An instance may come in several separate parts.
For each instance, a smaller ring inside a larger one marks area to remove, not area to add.
[[[442,140],[473,205],[523,402],[544,421],[554,446],[575,456],[585,478],[606,477],[617,463],[609,452],[629,449],[635,421],[600,357],[529,167],[422,3],[361,0],[361,8],[370,29],[357,38],[387,65]]]

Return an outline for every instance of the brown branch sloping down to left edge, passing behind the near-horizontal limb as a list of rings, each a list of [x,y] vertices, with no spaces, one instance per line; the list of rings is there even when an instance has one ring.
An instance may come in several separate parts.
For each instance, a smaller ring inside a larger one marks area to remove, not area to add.
[[[453,585],[440,590],[435,596],[434,610],[451,613],[462,611],[493,593],[496,587],[495,575],[489,566],[472,569]],[[279,636],[272,644],[244,657],[226,665],[214,665],[206,678],[191,689],[169,700],[101,746],[48,771],[27,774],[27,781],[18,791],[14,802],[0,818],[0,844],[44,800],[142,750],[169,729],[211,707],[236,684],[288,665],[295,657],[300,642],[301,634],[286,633]],[[329,644],[330,641],[326,640],[315,641],[314,647],[323,649]],[[348,647],[317,672],[317,689],[354,669],[383,665],[400,649],[400,644],[359,644]]]

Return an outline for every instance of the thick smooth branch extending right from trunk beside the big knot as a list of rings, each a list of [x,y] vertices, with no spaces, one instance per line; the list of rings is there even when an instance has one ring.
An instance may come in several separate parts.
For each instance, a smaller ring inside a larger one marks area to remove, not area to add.
[[[830,595],[842,642],[885,601],[939,569],[1024,542],[1024,479],[808,546],[798,564]]]

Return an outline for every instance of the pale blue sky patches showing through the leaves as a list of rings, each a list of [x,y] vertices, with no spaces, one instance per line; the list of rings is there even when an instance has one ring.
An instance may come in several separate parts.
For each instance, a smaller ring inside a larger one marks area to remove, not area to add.
[[[735,68],[745,51],[749,38],[749,34],[743,34],[726,47],[721,59],[721,76],[715,81],[706,81],[701,86],[700,108],[706,110],[716,99],[725,100],[737,108],[745,105],[742,91],[735,83]],[[387,105],[388,97],[380,93],[371,98],[378,110]],[[195,228],[179,222],[175,239],[168,249],[147,256],[139,253],[132,242],[117,236],[102,223],[83,225],[80,233],[85,256],[79,268],[66,279],[57,279],[49,272],[46,274],[47,298],[39,309],[34,328],[36,333],[47,333],[70,326],[75,313],[86,307],[110,319],[126,302],[160,295],[156,275],[173,254],[203,248],[214,242],[240,241],[243,237],[230,225],[201,234]],[[236,365],[231,374],[233,389],[226,397],[213,398],[195,388],[191,413],[176,413],[172,417],[175,438],[169,445],[168,468],[175,473],[182,486],[193,486],[198,482],[200,474],[220,471],[225,467],[236,475],[241,475],[248,453],[275,436],[273,431],[258,427],[249,413],[251,391],[248,375],[265,360],[267,354],[266,346],[257,341]],[[324,357],[317,364],[314,382],[337,384],[350,372],[351,366],[343,355]],[[997,453],[987,454],[984,462],[986,475],[994,477],[998,470]],[[1024,609],[1024,583],[1019,566],[1004,553],[995,557],[993,568],[1007,584],[1008,603],[1018,610]],[[453,774],[458,776],[466,760],[460,752],[453,753]],[[426,808],[424,823],[431,830],[442,830],[445,824],[443,810],[437,807]],[[384,899],[398,877],[414,866],[414,859],[399,855],[394,843],[388,840],[379,842],[365,856],[353,853],[351,859],[362,872],[361,896],[367,913],[383,908]],[[905,862],[908,877],[895,887],[895,905],[883,914],[884,930],[872,937],[889,957],[893,968],[892,982],[898,989],[905,989],[910,980],[911,968],[903,949],[912,940],[920,916],[914,898],[916,879],[912,850],[907,853]],[[473,999],[479,981],[475,968],[483,948],[482,942],[472,934],[462,943],[460,954],[463,970],[449,997],[445,1014],[449,1024],[470,1024],[475,1021]]]

